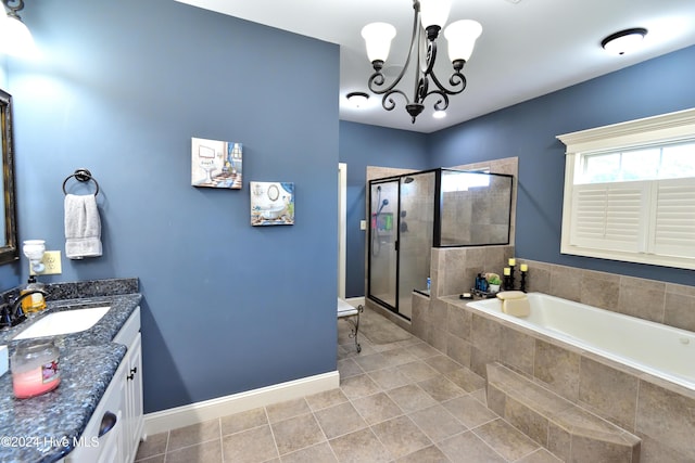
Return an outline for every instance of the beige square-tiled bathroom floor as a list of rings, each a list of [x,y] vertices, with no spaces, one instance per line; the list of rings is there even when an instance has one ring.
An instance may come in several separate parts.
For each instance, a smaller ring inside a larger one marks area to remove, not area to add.
[[[338,321],[339,389],[149,436],[136,461],[559,462],[485,407],[483,378],[386,318],[362,317],[359,355]]]

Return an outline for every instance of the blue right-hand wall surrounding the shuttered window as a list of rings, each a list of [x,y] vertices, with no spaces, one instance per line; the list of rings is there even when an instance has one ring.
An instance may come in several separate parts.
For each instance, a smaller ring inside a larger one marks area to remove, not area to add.
[[[565,145],[556,136],[695,106],[695,47],[430,136],[432,166],[519,157],[519,257],[694,284],[692,270],[560,255]]]

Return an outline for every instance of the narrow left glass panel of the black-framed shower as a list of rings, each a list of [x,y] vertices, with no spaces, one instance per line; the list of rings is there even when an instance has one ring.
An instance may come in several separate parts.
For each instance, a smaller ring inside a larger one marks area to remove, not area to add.
[[[369,189],[368,294],[395,310],[397,295],[399,180]]]

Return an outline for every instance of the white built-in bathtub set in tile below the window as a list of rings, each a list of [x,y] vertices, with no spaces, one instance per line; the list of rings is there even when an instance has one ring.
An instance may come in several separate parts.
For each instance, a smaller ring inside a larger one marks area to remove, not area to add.
[[[467,306],[695,391],[695,333],[542,293],[527,296],[526,318],[504,313],[497,298]]]

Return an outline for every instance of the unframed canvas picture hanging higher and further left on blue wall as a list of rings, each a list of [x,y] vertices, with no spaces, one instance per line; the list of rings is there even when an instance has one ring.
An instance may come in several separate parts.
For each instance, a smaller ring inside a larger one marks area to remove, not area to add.
[[[241,190],[242,144],[191,139],[191,184]]]

